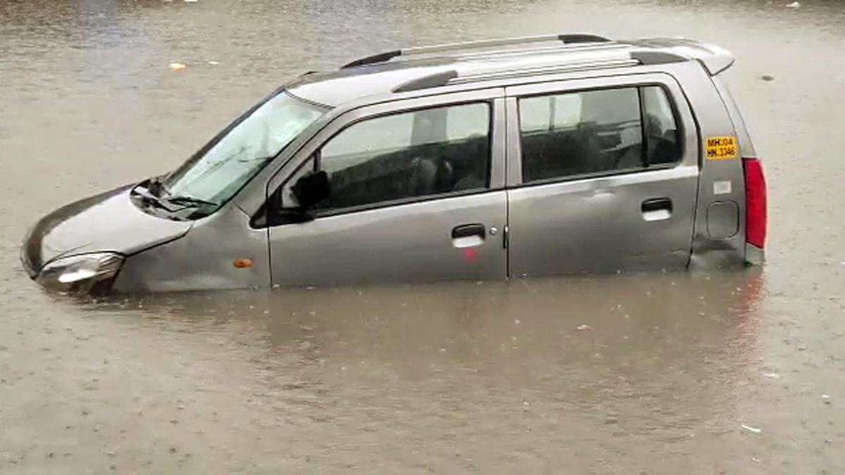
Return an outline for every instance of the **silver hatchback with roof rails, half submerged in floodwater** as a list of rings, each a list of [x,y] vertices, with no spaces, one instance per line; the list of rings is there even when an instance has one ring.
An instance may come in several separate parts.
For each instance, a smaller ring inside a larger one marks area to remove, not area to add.
[[[766,183],[732,64],[544,35],[303,74],[175,171],[41,219],[23,263],[82,292],[757,264]]]

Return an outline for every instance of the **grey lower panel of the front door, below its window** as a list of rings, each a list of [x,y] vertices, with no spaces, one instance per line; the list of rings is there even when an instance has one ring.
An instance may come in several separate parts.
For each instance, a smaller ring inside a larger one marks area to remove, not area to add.
[[[273,227],[273,283],[503,279],[507,254],[489,230],[504,227],[506,209],[504,191],[493,191]],[[452,239],[453,228],[471,223],[485,225],[487,238],[469,247]]]

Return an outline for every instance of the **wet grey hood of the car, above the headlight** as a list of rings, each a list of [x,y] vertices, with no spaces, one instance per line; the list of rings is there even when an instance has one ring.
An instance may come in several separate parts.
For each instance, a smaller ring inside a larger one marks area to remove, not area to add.
[[[193,221],[150,216],[129,199],[132,186],[63,206],[41,218],[25,237],[21,257],[30,275],[61,257],[93,252],[135,254],[184,236]]]

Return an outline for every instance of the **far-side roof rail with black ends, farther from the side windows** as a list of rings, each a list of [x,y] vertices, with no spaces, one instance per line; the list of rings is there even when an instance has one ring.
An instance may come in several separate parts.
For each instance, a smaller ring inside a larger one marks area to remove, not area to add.
[[[537,36],[517,36],[513,38],[499,38],[494,40],[482,41],[464,41],[461,43],[448,43],[444,45],[434,46],[416,46],[405,48],[401,50],[394,50],[390,52],[380,52],[372,56],[362,57],[347,63],[341,69],[356,68],[367,64],[385,63],[398,56],[411,56],[415,54],[429,54],[436,52],[451,52],[475,48],[489,48],[495,46],[520,46],[529,45],[532,43],[542,43],[548,41],[560,41],[564,45],[578,44],[578,43],[609,43],[612,40],[604,36],[589,35],[586,33],[575,33],[570,35],[537,35]]]

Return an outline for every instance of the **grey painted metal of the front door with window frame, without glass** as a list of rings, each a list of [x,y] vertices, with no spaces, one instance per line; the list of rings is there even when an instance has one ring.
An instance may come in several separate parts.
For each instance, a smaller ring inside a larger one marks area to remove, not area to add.
[[[500,99],[503,94],[501,89],[477,90],[368,106],[347,112],[324,128],[270,181],[268,194],[280,187],[320,145],[351,123],[384,113],[472,101],[493,103],[493,191],[428,198],[271,227],[273,283],[310,286],[352,281],[504,278],[507,254],[503,238],[488,231],[487,238],[465,247],[466,243],[455,242],[451,237],[452,229],[461,225],[477,223],[490,230],[502,229],[507,224],[506,195],[501,191],[504,188],[505,123]]]

